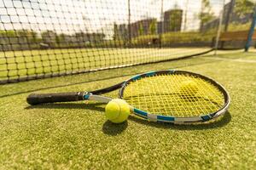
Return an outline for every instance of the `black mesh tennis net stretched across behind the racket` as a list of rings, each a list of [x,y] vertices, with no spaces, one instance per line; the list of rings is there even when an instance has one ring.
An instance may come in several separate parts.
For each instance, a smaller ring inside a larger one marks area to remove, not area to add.
[[[0,82],[201,54],[214,45],[223,7],[223,0],[0,0]]]

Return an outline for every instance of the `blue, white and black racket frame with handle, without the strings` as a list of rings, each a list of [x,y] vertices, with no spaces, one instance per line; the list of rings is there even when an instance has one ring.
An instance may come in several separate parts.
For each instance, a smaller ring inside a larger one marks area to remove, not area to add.
[[[186,124],[192,122],[207,122],[212,119],[217,118],[218,116],[223,115],[229,108],[230,105],[230,95],[226,91],[226,89],[218,82],[214,81],[210,77],[205,77],[197,73],[189,72],[189,71],[175,71],[175,70],[167,70],[167,71],[150,71],[143,74],[139,74],[135,77],[131,77],[130,79],[126,80],[125,82],[120,82],[116,85],[113,85],[108,88],[102,88],[95,91],[90,92],[75,92],[75,93],[59,93],[59,94],[30,94],[26,101],[30,105],[38,105],[43,103],[55,103],[55,102],[67,102],[67,101],[79,101],[79,100],[95,100],[102,103],[108,103],[111,101],[111,98],[102,96],[100,94],[106,94],[113,90],[119,89],[119,98],[123,99],[124,90],[130,82],[137,81],[143,77],[152,77],[154,75],[160,74],[181,74],[181,75],[193,75],[195,77],[200,77],[207,82],[211,82],[222,94],[224,94],[224,105],[219,108],[218,111],[201,115],[201,116],[162,116],[162,115],[155,115],[148,113],[147,111],[142,111],[134,106],[130,105],[131,111],[144,119],[147,119],[151,122],[172,122],[178,124]]]

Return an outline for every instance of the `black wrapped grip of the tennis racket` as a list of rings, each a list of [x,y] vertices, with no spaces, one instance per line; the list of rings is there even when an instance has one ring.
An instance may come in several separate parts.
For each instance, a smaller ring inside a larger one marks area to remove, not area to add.
[[[30,105],[43,103],[67,102],[84,100],[84,92],[57,93],[57,94],[30,94],[26,102]]]

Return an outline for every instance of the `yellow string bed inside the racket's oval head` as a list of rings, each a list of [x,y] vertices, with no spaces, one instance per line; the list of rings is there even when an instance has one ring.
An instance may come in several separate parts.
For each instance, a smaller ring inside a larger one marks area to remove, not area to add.
[[[182,89],[183,82],[195,82]],[[137,109],[157,115],[199,116],[218,111],[224,94],[200,77],[161,74],[130,82],[123,98]]]

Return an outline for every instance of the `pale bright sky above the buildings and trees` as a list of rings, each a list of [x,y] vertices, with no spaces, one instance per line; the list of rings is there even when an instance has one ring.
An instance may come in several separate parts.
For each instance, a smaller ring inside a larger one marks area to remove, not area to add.
[[[228,1],[228,0],[226,0]],[[161,0],[131,0],[131,22],[146,18],[160,21]],[[164,11],[182,8],[186,30],[198,29],[201,0],[163,0]],[[224,0],[210,0],[218,16]],[[58,33],[104,32],[113,34],[113,23],[128,23],[128,0],[0,0],[0,30],[52,30]],[[183,21],[184,26],[184,21]],[[183,28],[184,29],[184,28]]]

